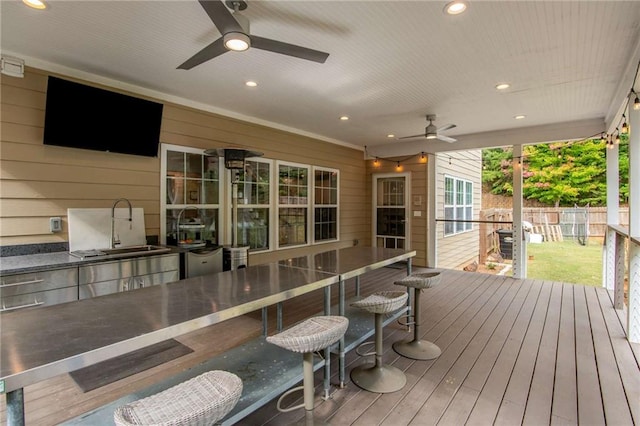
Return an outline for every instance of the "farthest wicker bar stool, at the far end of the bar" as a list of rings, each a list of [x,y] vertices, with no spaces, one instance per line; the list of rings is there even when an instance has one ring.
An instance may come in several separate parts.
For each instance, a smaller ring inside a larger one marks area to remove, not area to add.
[[[440,272],[424,272],[411,274],[394,284],[407,287],[407,291],[413,288],[413,340],[398,341],[393,344],[393,349],[400,355],[417,360],[429,360],[440,356],[442,351],[434,343],[420,340],[420,295],[422,291],[440,283]]]

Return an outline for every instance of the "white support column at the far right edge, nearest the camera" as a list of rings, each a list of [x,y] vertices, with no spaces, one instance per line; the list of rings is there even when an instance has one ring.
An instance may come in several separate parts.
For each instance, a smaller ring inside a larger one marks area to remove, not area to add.
[[[640,110],[629,101],[629,237],[640,241]],[[629,241],[629,341],[640,343],[640,246]]]

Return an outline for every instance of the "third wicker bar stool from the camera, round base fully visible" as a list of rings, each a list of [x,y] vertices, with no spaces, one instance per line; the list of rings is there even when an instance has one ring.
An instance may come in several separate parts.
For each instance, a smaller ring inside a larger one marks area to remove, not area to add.
[[[364,390],[389,393],[402,389],[407,383],[402,370],[382,363],[383,315],[397,311],[406,305],[407,296],[408,294],[404,291],[380,291],[351,304],[373,313],[375,317],[375,352],[360,352],[364,345],[374,342],[365,342],[356,349],[356,353],[360,356],[375,355],[375,363],[359,365],[351,370],[351,380]]]

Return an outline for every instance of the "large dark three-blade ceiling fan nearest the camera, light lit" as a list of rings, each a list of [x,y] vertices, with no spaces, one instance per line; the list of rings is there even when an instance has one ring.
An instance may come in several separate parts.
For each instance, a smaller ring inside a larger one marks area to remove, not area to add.
[[[329,57],[329,54],[325,52],[251,34],[249,19],[240,13],[247,8],[246,1],[198,1],[222,37],[186,60],[178,66],[178,69],[189,70],[229,50],[243,51],[250,47],[319,63],[324,63]],[[233,9],[233,13],[229,11],[228,7]]]

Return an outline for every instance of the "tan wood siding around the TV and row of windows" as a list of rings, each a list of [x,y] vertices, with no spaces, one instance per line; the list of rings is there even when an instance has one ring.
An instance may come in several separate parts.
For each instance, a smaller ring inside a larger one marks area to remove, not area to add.
[[[111,207],[122,197],[144,208],[147,236],[159,235],[160,159],[43,145],[48,75],[27,67],[24,78],[0,79],[0,244],[67,241],[67,208]],[[162,143],[202,149],[242,146],[262,151],[266,158],[340,170],[340,241],[252,254],[252,263],[349,246],[355,240],[370,244],[368,183],[360,150],[163,103]],[[52,216],[62,217],[63,232],[49,232]]]

